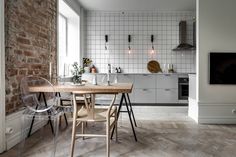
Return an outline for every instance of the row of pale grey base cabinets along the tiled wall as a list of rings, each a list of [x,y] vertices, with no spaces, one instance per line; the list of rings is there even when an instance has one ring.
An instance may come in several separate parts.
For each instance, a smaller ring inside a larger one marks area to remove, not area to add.
[[[97,74],[98,83],[102,82],[105,75]],[[114,82],[115,76],[120,83],[133,83],[133,91],[129,94],[133,103],[186,103],[178,100],[179,74],[111,74],[111,82]],[[91,77],[94,74],[83,74],[83,79],[92,80]],[[117,102],[119,98],[120,96],[117,97]],[[109,98],[102,96],[100,100],[102,99]]]

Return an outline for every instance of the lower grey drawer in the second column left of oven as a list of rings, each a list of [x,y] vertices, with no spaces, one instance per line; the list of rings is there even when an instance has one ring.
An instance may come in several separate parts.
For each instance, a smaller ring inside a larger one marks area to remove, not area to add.
[[[134,89],[135,103],[155,103],[155,89]]]

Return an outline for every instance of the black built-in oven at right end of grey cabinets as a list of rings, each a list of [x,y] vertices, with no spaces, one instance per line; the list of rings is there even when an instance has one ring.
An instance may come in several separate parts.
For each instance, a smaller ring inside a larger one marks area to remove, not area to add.
[[[189,79],[179,78],[179,100],[188,100]]]

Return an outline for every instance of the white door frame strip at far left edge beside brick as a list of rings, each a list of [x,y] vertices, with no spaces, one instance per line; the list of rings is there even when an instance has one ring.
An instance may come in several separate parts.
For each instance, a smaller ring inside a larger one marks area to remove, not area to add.
[[[4,29],[4,0],[0,1],[0,153],[6,150],[5,135],[5,29]]]

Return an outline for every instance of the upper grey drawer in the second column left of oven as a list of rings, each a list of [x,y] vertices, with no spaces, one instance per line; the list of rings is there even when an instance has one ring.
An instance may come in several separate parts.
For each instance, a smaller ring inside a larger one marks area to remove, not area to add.
[[[135,75],[134,87],[135,88],[155,88],[155,75],[140,74]]]

